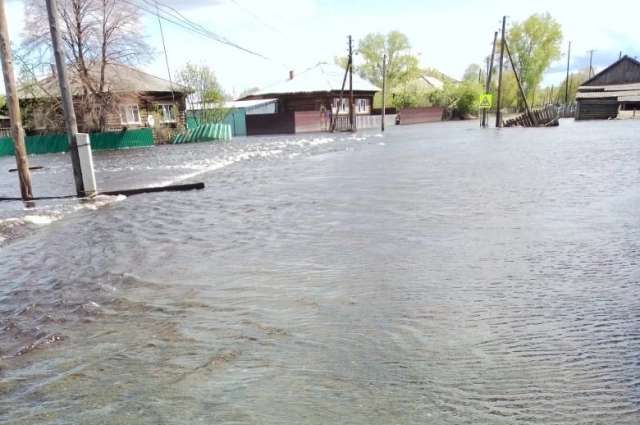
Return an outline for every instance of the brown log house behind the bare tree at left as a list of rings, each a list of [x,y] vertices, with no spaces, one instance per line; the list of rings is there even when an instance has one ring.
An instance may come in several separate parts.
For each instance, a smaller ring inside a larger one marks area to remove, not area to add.
[[[80,75],[73,66],[68,68],[80,132],[184,127],[188,94],[185,87],[119,64],[107,64],[104,79],[101,72],[99,64],[87,75]],[[64,131],[55,73],[22,86],[18,97],[28,134]]]

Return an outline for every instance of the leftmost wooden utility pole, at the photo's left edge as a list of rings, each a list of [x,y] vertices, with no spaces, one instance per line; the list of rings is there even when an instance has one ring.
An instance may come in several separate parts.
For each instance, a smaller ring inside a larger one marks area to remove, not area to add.
[[[2,60],[2,76],[7,92],[7,108],[11,119],[11,137],[13,138],[13,150],[18,167],[20,179],[20,194],[22,199],[33,198],[31,191],[31,177],[29,176],[29,163],[27,150],[24,145],[24,132],[22,131],[22,118],[20,117],[20,104],[18,102],[18,89],[16,77],[13,73],[13,60],[11,58],[11,46],[9,44],[9,29],[7,28],[7,13],[4,8],[4,0],[0,0],[0,59]]]

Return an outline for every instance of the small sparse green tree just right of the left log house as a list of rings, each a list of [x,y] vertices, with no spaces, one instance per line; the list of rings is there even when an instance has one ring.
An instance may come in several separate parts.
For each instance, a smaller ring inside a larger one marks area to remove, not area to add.
[[[188,62],[175,76],[176,81],[189,90],[188,109],[199,111],[193,116],[198,125],[221,122],[229,114],[229,108],[224,106],[224,91],[208,65]]]

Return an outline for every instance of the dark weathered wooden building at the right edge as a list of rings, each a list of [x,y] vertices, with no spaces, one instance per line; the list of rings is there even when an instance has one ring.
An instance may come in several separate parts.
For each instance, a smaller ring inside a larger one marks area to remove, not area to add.
[[[640,62],[623,56],[578,87],[576,119],[613,119],[640,109]]]

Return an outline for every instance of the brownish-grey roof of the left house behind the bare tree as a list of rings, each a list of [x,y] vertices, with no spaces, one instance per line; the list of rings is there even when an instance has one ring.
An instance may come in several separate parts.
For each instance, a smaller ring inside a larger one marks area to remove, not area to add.
[[[83,86],[79,73],[76,68],[69,66],[67,68],[67,76],[71,87],[72,95],[80,95]],[[98,64],[89,70],[89,78],[93,81],[100,79],[100,67]],[[50,96],[60,96],[60,88],[58,86],[58,78],[56,75],[49,75],[39,81],[38,84],[29,87],[21,87],[18,90],[20,99],[33,99]],[[110,63],[105,67],[105,87],[104,91],[111,92],[177,92],[183,93],[187,88],[171,83],[168,80],[156,77],[146,72],[131,68],[125,65]]]

